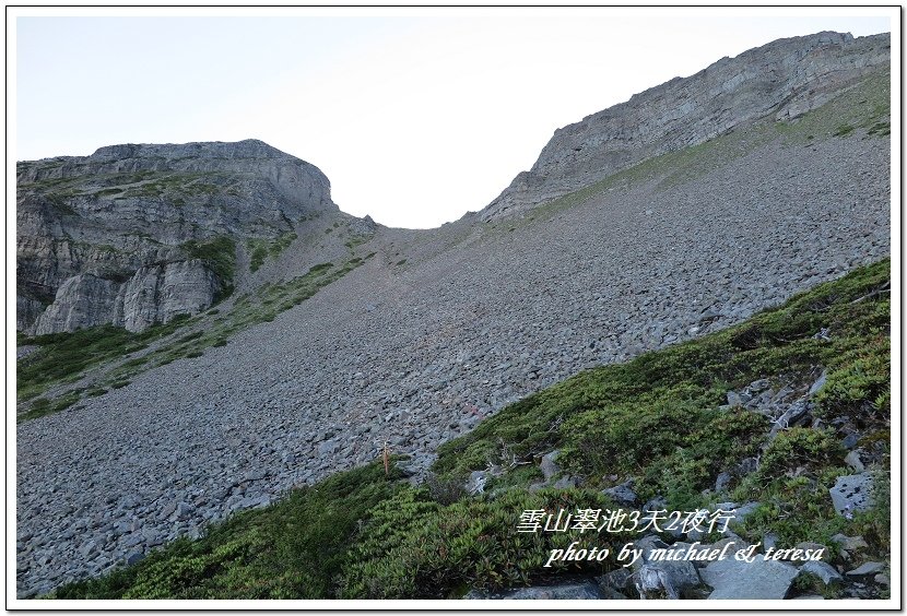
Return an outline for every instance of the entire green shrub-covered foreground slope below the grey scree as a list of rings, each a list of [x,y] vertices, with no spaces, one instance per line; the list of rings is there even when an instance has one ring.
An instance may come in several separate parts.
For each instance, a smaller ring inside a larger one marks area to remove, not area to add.
[[[620,565],[544,565],[575,541],[620,548],[641,535],[518,532],[520,516],[627,507],[602,491],[627,481],[637,504],[662,497],[668,510],[756,502],[732,526],[743,541],[813,542],[838,568],[886,568],[888,284],[886,260],[738,327],[587,370],[445,445],[424,484],[403,481],[399,460],[339,473],[54,596],[435,599],[598,576]],[[773,400],[794,403],[774,416]],[[553,450],[562,466],[555,485],[552,466],[542,482],[538,465]],[[874,505],[839,514],[829,488],[855,473],[848,464],[865,466]],[[474,494],[461,487],[470,475]],[[843,544],[841,535],[862,542]],[[853,594],[801,573],[789,596]],[[883,585],[873,589],[857,595],[884,595]]]

